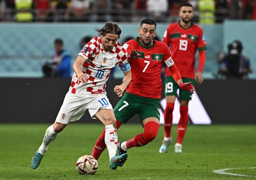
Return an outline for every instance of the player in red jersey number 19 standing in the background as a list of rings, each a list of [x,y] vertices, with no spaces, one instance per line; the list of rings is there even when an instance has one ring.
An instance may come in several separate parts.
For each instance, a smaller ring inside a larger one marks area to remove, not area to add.
[[[180,21],[168,26],[164,33],[162,42],[170,46],[172,57],[175,60],[183,81],[191,81],[194,85],[195,79],[197,83],[203,82],[203,68],[205,62],[205,52],[207,49],[203,30],[192,23],[193,7],[191,4],[183,4],[179,12]],[[199,51],[199,67],[195,74],[195,53]],[[173,109],[176,98],[176,92],[180,87],[174,81],[169,69],[166,69],[165,79],[165,97],[166,109],[164,111],[164,140],[162,141],[160,153],[165,153],[168,146],[172,143],[171,126],[173,122]],[[182,152],[182,141],[185,136],[188,116],[188,102],[191,100],[191,92],[180,89],[180,120],[178,123],[178,136],[175,144],[174,152]]]

